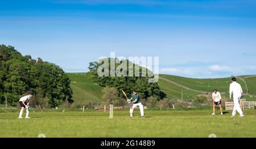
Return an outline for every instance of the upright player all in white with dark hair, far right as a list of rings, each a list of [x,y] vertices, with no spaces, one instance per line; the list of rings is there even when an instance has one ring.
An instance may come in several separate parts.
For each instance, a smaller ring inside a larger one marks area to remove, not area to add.
[[[232,112],[232,117],[236,116],[236,112],[238,112],[241,117],[245,117],[245,115],[243,115],[243,112],[239,104],[242,93],[243,93],[243,90],[241,85],[237,83],[236,78],[232,78],[232,83],[230,84],[230,87],[229,87],[230,99],[232,99],[232,94],[233,94],[233,101],[234,101],[234,110]]]

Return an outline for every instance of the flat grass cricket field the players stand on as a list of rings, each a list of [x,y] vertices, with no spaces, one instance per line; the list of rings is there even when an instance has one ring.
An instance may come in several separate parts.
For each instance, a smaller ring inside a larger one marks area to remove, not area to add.
[[[232,118],[230,112],[210,116],[210,109],[146,110],[146,118],[139,118],[137,110],[129,118],[125,109],[114,110],[113,119],[109,112],[95,110],[33,110],[31,119],[18,119],[18,109],[0,109],[0,137],[256,137],[255,110],[245,110],[243,118]]]

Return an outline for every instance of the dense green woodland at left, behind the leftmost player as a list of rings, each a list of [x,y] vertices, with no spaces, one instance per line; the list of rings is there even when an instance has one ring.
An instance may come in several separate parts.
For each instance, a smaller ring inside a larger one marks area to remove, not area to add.
[[[0,102],[15,106],[31,91],[36,102],[56,107],[72,102],[71,80],[64,71],[43,59],[22,56],[13,46],[0,45]]]

